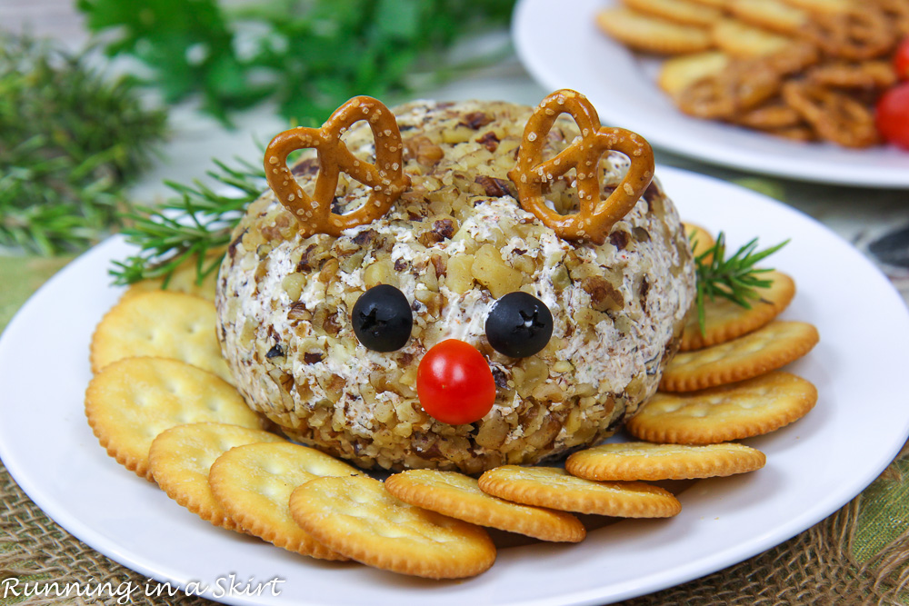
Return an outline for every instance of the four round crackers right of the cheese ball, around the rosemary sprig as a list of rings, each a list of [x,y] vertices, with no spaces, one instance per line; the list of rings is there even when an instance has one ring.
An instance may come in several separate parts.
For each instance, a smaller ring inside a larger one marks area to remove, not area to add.
[[[698,248],[711,248],[709,233],[689,233]],[[648,442],[714,444],[772,432],[814,407],[814,385],[779,369],[811,351],[817,329],[776,320],[793,300],[795,283],[777,271],[763,277],[771,284],[750,308],[707,299],[703,331],[690,314],[681,353],[666,368],[660,392],[628,422],[628,432]]]

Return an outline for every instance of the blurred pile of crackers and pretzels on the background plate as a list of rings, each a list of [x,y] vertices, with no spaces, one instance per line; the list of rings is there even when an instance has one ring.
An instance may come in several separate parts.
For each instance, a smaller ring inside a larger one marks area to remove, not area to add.
[[[880,143],[874,104],[896,83],[909,0],[622,0],[596,23],[672,55],[657,82],[685,114],[861,148]]]

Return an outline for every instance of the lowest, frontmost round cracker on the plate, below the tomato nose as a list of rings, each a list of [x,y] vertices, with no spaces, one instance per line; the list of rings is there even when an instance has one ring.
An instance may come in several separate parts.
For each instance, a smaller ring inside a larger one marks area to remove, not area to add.
[[[306,482],[291,494],[290,511],[316,541],[386,571],[459,579],[495,561],[484,529],[405,503],[366,476]]]

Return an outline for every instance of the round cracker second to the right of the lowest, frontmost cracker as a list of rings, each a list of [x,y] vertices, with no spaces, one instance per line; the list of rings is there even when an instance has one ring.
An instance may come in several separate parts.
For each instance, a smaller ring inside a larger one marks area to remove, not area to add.
[[[592,482],[558,467],[504,465],[484,472],[484,492],[537,507],[618,518],[669,518],[682,511],[671,492],[644,482]]]

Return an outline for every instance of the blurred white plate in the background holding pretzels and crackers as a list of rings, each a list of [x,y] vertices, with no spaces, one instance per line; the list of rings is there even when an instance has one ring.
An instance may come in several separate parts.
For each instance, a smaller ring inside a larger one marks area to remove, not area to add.
[[[678,111],[655,83],[656,61],[602,34],[594,15],[614,0],[521,0],[512,31],[517,54],[546,88],[585,94],[606,124],[643,134],[655,147],[713,164],[803,181],[909,187],[909,152],[800,144]]]

